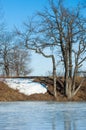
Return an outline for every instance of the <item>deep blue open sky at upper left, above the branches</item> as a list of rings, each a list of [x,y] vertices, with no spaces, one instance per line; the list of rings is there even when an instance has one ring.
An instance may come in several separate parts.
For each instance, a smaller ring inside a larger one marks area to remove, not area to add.
[[[42,10],[46,0],[1,0],[5,21],[9,28],[20,26],[28,16]]]

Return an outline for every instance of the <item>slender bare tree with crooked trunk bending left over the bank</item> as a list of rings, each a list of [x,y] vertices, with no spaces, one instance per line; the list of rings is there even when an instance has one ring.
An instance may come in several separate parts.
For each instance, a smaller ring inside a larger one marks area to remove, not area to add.
[[[53,85],[54,85],[54,96],[57,98],[56,92],[56,61],[55,55],[52,53],[50,46],[42,40],[40,35],[40,28],[33,24],[34,21],[29,21],[28,23],[24,23],[25,30],[24,32],[19,31],[16,29],[16,33],[21,38],[21,43],[27,48],[32,51],[35,51],[38,54],[41,54],[45,58],[50,58],[53,64]],[[47,51],[50,51],[48,52]]]

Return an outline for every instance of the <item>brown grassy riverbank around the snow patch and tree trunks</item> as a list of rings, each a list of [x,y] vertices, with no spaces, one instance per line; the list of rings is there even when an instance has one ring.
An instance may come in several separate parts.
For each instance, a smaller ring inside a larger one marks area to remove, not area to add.
[[[53,96],[53,80],[52,78],[35,78],[36,82],[44,83],[48,86],[48,92],[45,94],[33,94],[30,96],[19,93],[18,90],[9,88],[4,82],[0,82],[0,101],[68,101],[67,97],[63,95],[63,88],[61,80],[57,80],[57,99]],[[80,81],[80,80],[79,80]],[[79,82],[78,81],[78,82]],[[71,99],[71,101],[86,101],[86,81],[82,84],[80,90]]]

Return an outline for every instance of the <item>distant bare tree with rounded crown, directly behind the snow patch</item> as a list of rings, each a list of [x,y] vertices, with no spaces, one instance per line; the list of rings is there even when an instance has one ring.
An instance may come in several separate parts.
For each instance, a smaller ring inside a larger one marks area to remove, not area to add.
[[[30,54],[20,46],[14,46],[11,50],[11,73],[15,76],[26,76],[32,72],[30,68]]]

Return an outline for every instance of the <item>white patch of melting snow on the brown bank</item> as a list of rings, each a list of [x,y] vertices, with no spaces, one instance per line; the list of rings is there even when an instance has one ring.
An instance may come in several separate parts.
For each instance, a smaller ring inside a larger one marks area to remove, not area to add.
[[[32,94],[45,94],[47,92],[47,86],[39,82],[34,82],[33,79],[24,78],[8,78],[4,82],[12,89],[17,89],[20,93],[25,95]]]

